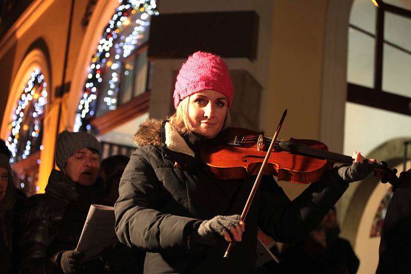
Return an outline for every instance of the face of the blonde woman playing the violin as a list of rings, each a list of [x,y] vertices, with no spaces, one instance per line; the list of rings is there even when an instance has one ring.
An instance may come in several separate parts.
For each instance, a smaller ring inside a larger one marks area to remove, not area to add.
[[[189,98],[189,121],[195,133],[206,138],[215,137],[226,119],[226,95],[214,90],[202,90]]]

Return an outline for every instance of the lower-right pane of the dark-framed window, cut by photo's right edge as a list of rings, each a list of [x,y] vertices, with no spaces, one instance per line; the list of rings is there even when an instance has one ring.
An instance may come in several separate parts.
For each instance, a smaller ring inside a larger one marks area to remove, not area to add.
[[[384,44],[382,89],[411,97],[411,55]]]

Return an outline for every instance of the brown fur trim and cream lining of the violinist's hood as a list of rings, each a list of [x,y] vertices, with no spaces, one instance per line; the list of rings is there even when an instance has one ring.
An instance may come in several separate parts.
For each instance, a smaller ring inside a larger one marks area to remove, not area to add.
[[[140,124],[136,134],[134,134],[134,143],[137,147],[152,145],[162,149],[165,146],[167,149],[175,152],[193,157],[195,155],[194,151],[169,122],[163,123],[163,121],[156,119],[148,119]]]

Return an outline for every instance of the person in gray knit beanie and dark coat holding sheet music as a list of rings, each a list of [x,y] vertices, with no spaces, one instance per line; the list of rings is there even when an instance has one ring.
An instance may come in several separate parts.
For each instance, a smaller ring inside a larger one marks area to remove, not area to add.
[[[104,184],[98,179],[101,145],[86,132],[63,131],[57,137],[55,162],[46,192],[30,197],[20,241],[25,273],[98,273],[100,259],[82,263],[75,251],[88,209],[101,204]]]

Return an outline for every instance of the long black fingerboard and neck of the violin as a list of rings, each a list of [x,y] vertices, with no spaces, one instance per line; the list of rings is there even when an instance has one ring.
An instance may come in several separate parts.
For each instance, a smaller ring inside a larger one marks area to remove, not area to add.
[[[276,147],[279,147],[282,150],[289,151],[295,154],[310,156],[313,158],[327,160],[334,163],[351,165],[353,161],[352,158],[347,155],[329,152],[323,149],[317,149],[301,144],[294,144],[292,142],[287,141],[277,142]]]

